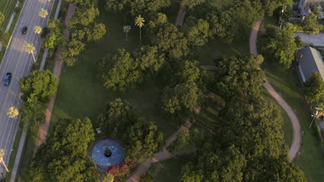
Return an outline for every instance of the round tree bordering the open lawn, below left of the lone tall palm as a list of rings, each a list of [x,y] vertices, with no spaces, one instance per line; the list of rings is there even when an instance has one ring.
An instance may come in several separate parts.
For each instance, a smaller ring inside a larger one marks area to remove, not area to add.
[[[99,63],[101,79],[105,88],[125,91],[141,81],[138,63],[129,52],[119,49]]]

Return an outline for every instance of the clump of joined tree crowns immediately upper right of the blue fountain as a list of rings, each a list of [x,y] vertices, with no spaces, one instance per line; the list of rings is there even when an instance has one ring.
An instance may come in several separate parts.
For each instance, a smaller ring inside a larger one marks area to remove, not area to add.
[[[98,121],[103,132],[123,143],[127,162],[151,159],[163,142],[156,124],[138,118],[132,106],[121,99],[111,101]]]

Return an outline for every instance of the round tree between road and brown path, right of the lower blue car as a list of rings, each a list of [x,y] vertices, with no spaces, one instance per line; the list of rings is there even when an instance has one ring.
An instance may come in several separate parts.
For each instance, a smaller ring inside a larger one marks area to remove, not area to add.
[[[28,77],[20,80],[20,89],[24,93],[25,101],[33,95],[37,100],[45,102],[55,94],[57,78],[48,70],[33,71]]]

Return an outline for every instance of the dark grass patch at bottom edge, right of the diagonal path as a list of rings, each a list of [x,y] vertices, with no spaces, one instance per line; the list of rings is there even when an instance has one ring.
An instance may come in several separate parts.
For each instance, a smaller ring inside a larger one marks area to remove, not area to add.
[[[156,177],[154,182],[176,182],[181,181],[181,167],[189,161],[189,156],[179,156],[179,158],[168,159],[159,163],[154,163]]]

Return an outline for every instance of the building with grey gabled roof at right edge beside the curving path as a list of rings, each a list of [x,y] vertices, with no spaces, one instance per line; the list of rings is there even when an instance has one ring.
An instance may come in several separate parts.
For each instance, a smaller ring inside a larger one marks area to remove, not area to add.
[[[319,72],[324,80],[324,62],[321,53],[318,50],[306,47],[298,50],[296,61],[298,70],[303,81],[306,82],[309,77],[312,77],[313,72]]]

